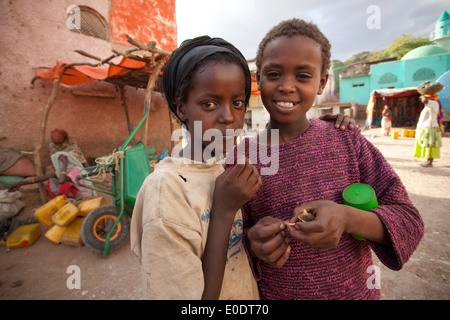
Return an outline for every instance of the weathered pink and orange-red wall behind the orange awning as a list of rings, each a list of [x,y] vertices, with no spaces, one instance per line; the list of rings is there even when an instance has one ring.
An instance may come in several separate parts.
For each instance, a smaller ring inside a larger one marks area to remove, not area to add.
[[[115,43],[129,45],[124,34],[144,43],[156,40],[168,51],[176,47],[175,0],[38,2],[30,5],[29,0],[0,1],[0,146],[28,152],[34,151],[39,142],[40,122],[52,90],[52,82],[48,81],[37,80],[31,85],[37,67],[51,68],[58,61],[97,63],[75,50],[106,58],[112,54]],[[66,10],[74,3],[99,12],[111,25],[112,39],[106,41],[70,31]],[[77,96],[76,91],[99,91],[110,97]],[[143,115],[145,90],[126,86],[125,100],[135,127]],[[152,102],[148,145],[160,154],[164,148],[171,149],[169,109],[163,103],[155,105],[156,99]],[[65,129],[76,138],[86,157],[118,149],[129,135],[119,89],[102,81],[60,86],[48,116],[42,149],[44,166],[50,165],[48,143],[55,128]]]

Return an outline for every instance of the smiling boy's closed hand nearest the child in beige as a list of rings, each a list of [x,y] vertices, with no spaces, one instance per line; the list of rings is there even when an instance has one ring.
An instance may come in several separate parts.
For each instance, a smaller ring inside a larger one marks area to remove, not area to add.
[[[291,251],[284,229],[282,220],[269,216],[260,219],[247,234],[250,254],[273,267],[281,268]]]

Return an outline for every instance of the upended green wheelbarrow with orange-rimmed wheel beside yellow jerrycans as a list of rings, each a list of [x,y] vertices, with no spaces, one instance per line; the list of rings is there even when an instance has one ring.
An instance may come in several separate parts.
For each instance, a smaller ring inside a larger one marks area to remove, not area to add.
[[[110,250],[119,248],[130,233],[130,218],[139,189],[145,178],[151,173],[145,145],[138,142],[127,148],[144,121],[148,117],[148,107],[145,114],[130,136],[120,147],[117,162],[100,164],[86,168],[77,178],[79,186],[109,194],[113,197],[112,206],[101,206],[91,211],[81,226],[83,243],[106,257]],[[112,174],[111,185],[92,180],[96,168],[106,167],[105,172]],[[88,186],[82,180],[90,181]],[[98,187],[96,187],[98,185]],[[102,189],[99,187],[103,186]]]

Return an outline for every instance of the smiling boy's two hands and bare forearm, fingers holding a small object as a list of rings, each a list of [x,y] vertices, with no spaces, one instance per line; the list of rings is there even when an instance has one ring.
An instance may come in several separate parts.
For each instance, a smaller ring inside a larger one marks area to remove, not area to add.
[[[314,249],[336,247],[343,233],[358,233],[371,241],[389,244],[384,226],[374,213],[317,200],[295,208],[288,221],[270,216],[260,219],[247,234],[250,254],[281,268],[291,251],[286,229],[294,240]]]

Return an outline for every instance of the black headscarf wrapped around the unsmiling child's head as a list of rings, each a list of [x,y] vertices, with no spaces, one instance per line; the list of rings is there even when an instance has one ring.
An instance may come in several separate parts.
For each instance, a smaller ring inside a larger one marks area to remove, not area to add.
[[[177,117],[177,97],[183,80],[199,61],[217,52],[229,52],[235,54],[242,60],[241,63],[245,74],[245,104],[246,106],[248,105],[251,94],[251,77],[247,61],[242,53],[231,43],[222,38],[201,36],[183,41],[183,43],[173,51],[164,69],[164,94],[170,110]]]

